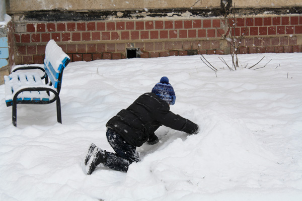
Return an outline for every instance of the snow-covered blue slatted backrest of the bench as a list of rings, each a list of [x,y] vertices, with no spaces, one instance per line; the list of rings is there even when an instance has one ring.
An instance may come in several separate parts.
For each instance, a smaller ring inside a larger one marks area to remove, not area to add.
[[[61,89],[63,70],[70,61],[70,57],[63,52],[54,40],[50,40],[45,49],[44,68],[48,78],[58,93]]]

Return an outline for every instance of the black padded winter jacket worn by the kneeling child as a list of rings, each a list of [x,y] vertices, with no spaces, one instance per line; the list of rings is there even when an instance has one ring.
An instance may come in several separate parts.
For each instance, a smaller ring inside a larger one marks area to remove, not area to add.
[[[115,130],[130,145],[140,147],[160,126],[183,131],[196,132],[198,125],[170,112],[169,105],[155,93],[144,93],[127,109],[111,118],[107,128]]]

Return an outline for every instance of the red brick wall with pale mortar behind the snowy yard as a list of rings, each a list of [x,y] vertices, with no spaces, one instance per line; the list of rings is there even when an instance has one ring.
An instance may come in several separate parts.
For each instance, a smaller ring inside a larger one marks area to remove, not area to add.
[[[160,19],[160,18],[159,18]],[[89,22],[15,22],[16,64],[43,63],[45,45],[55,40],[71,61],[126,58],[127,48],[140,57],[226,54],[219,18]],[[302,16],[242,17],[236,34],[246,30],[240,53],[301,52]]]

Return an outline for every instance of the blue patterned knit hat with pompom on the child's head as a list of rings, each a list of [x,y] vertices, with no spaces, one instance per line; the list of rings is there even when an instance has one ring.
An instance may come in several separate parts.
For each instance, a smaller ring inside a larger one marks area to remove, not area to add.
[[[161,81],[157,83],[152,91],[157,94],[161,99],[165,100],[169,105],[175,104],[175,92],[171,84],[169,83],[168,77],[162,77]]]

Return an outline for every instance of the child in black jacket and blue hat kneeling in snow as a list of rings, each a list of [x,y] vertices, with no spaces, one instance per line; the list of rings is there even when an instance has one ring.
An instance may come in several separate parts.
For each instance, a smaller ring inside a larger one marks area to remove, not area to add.
[[[168,77],[162,77],[151,93],[140,95],[127,109],[111,118],[106,124],[106,136],[115,153],[91,144],[84,161],[87,174],[91,174],[99,164],[127,172],[131,163],[139,161],[136,147],[145,142],[159,142],[154,132],[162,125],[189,135],[197,134],[197,124],[170,112],[169,105],[174,105],[175,99]]]

